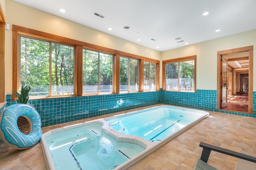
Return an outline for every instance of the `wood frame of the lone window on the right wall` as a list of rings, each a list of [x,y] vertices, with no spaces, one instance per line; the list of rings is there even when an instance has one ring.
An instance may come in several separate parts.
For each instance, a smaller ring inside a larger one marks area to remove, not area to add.
[[[180,90],[166,90],[165,89],[165,64],[168,63],[175,63],[175,62],[182,62],[182,61],[189,61],[189,60],[194,60],[195,65],[194,65],[194,91],[180,91]],[[196,92],[196,55],[188,56],[188,57],[182,57],[182,58],[177,58],[177,59],[170,59],[170,60],[164,60],[162,61],[162,78],[163,78],[163,85],[162,88],[165,91],[175,91],[175,92]]]

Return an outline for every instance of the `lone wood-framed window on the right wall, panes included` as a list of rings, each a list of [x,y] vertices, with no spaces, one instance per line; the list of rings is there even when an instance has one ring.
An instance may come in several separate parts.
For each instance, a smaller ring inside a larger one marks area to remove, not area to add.
[[[163,61],[164,90],[195,92],[196,56]]]

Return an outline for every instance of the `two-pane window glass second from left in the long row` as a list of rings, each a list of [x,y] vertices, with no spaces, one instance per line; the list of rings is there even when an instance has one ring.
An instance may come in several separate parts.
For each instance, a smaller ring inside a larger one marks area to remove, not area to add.
[[[113,92],[113,55],[83,49],[83,93]]]

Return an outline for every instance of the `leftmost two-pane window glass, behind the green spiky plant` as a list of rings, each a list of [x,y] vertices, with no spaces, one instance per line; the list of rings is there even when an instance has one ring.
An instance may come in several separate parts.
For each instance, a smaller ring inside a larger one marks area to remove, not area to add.
[[[74,47],[20,36],[19,77],[30,96],[74,94]]]

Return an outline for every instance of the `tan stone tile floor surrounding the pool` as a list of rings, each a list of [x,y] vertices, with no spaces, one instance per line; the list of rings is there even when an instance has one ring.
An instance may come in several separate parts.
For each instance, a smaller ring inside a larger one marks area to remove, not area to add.
[[[53,125],[42,130],[45,133],[51,129],[143,108],[147,107]],[[256,156],[256,118],[210,111],[209,117],[166,143],[129,170],[193,170],[202,153],[202,148],[199,147],[201,141]],[[208,164],[219,170],[235,170],[237,160],[232,156],[212,151]],[[0,170],[46,170],[41,144],[26,150],[12,149],[3,144],[0,149]]]

